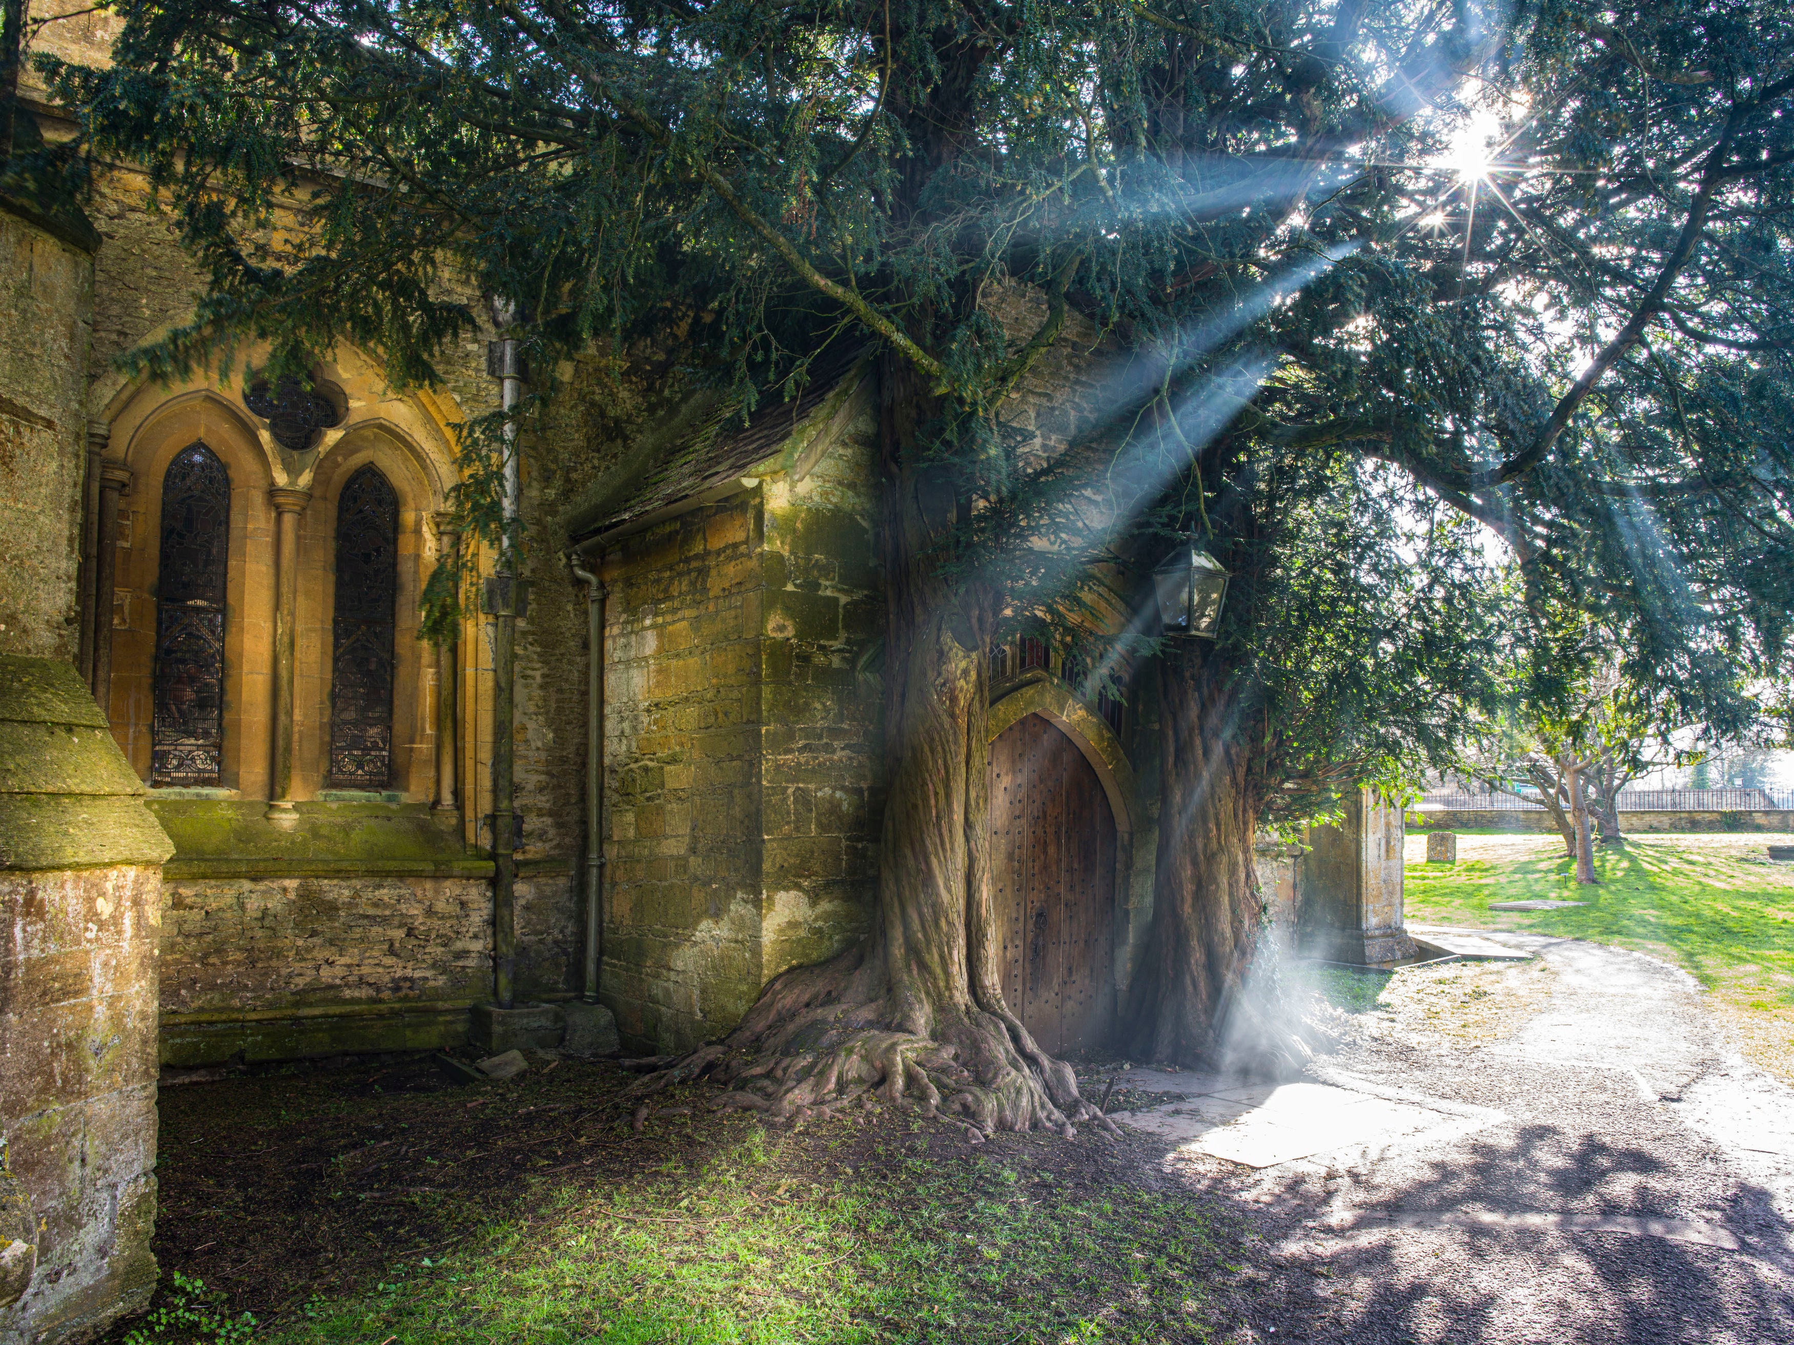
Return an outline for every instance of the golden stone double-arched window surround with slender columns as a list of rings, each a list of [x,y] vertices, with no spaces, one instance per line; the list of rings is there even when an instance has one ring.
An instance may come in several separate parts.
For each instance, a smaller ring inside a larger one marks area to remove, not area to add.
[[[242,389],[210,375],[97,386],[90,531],[109,538],[104,547],[95,542],[95,554],[104,551],[115,567],[104,574],[106,567],[95,565],[104,577],[95,577],[83,599],[83,620],[93,629],[100,608],[111,617],[104,674],[95,651],[91,678],[104,681],[102,701],[133,768],[152,780],[163,475],[179,452],[205,443],[230,477],[215,785],[242,800],[269,800],[274,825],[294,818],[296,802],[344,787],[341,777],[332,780],[330,764],[337,509],[350,479],[371,466],[396,500],[389,768],[380,793],[456,807],[456,782],[472,780],[477,764],[457,753],[475,751],[461,719],[477,714],[479,672],[466,669],[457,647],[438,651],[416,633],[423,577],[438,547],[452,545],[432,516],[456,479],[448,427],[465,416],[440,395],[395,391],[379,366],[353,350],[337,351],[316,375],[343,391],[344,418],[303,452],[276,445],[244,407]],[[109,520],[104,531],[102,516]],[[459,649],[466,647],[463,637]],[[454,689],[448,698],[438,694],[440,685]],[[448,719],[440,719],[438,705]],[[160,784],[170,784],[167,773]],[[362,780],[355,784],[357,793],[366,789]],[[440,796],[438,785],[445,791]]]

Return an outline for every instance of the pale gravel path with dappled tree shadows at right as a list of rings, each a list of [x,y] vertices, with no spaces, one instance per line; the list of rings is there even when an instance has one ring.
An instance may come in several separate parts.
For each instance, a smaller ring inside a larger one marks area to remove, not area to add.
[[[1683,972],[1480,933],[1543,958],[1530,1017],[1363,1033],[1315,1076],[1500,1119],[1256,1173],[1168,1157],[1263,1236],[1236,1338],[1794,1341],[1794,1090],[1728,1047]]]

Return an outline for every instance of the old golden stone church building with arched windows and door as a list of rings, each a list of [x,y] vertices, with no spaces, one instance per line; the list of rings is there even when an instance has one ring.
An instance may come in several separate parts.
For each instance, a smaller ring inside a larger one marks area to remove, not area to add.
[[[41,43],[102,61],[109,23]],[[461,543],[456,427],[499,398],[484,334],[434,389],[353,348],[309,395],[126,377],[203,289],[147,204],[127,163],[79,208],[0,190],[4,1345],[147,1298],[158,1069],[490,1031],[488,622],[418,638]],[[1035,299],[1001,303],[1019,325]],[[551,1046],[596,893],[621,1046],[675,1053],[868,916],[874,375],[845,364],[743,425],[631,402],[596,355],[558,373],[526,448],[518,999]],[[1042,360],[1014,423],[1062,443],[1094,387],[1087,360]],[[1105,597],[1119,629],[1137,595]],[[1048,1049],[1102,1051],[1152,913],[1154,678],[1114,696],[1044,635],[990,660],[1005,990]],[[1399,812],[1351,818],[1301,861],[1267,845],[1267,889],[1326,956],[1399,958]]]

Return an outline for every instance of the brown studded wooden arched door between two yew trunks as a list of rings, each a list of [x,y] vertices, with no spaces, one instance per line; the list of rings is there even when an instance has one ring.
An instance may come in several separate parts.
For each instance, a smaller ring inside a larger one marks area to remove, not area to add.
[[[1084,753],[1042,716],[990,744],[990,850],[1005,1001],[1053,1054],[1109,1046],[1116,818]]]

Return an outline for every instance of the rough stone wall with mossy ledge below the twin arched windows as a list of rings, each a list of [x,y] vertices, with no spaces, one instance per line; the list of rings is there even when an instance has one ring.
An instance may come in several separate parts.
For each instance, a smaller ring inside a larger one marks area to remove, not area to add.
[[[452,814],[301,803],[280,830],[255,802],[152,807],[179,846],[163,889],[163,1063],[466,1040],[468,1004],[490,994],[492,864],[463,852]],[[556,864],[518,879],[524,997],[565,983],[567,882]]]

